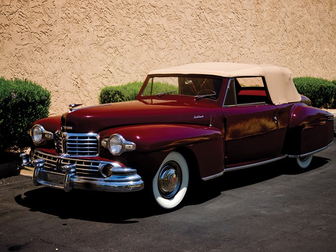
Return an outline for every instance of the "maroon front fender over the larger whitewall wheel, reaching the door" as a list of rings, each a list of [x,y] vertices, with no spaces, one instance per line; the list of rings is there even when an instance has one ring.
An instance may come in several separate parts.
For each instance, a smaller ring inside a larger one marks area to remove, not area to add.
[[[190,161],[188,163],[190,169],[198,169],[199,176],[203,180],[223,174],[223,137],[216,127],[171,124],[136,125],[104,130],[100,136],[106,139],[114,133],[119,133],[126,141],[136,144],[134,153],[125,152],[124,155],[128,157],[126,159],[137,159],[137,165],[144,166],[143,168],[147,171],[152,169],[156,172],[155,169],[162,160],[171,151],[177,151]]]

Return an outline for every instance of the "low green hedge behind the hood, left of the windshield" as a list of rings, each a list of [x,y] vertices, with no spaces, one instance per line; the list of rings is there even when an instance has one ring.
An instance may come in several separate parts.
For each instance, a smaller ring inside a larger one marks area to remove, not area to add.
[[[100,91],[99,104],[135,100],[142,82],[131,82],[120,86],[105,87]]]

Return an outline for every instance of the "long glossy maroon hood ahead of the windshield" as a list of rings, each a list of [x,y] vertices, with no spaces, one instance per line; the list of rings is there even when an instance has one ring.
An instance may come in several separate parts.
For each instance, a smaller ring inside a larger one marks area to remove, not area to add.
[[[197,124],[210,125],[214,106],[195,101],[143,100],[103,104],[75,109],[63,114],[62,131],[99,132],[126,125]]]

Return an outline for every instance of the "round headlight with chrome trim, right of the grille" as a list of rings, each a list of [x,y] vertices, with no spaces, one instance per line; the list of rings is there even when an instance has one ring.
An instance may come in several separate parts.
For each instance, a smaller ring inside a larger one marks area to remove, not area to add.
[[[126,141],[121,134],[113,134],[108,139],[102,140],[102,146],[107,148],[114,156],[120,156],[124,152],[134,151],[136,144]]]

